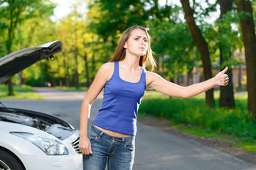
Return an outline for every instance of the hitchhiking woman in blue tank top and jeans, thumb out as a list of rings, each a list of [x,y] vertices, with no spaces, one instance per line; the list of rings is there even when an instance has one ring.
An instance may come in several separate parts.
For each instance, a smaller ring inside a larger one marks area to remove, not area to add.
[[[168,96],[189,98],[214,86],[228,84],[225,72],[199,84],[183,87],[146,71],[155,66],[149,34],[142,26],[124,31],[112,60],[98,70],[90,89],[82,101],[80,112],[80,152],[83,168],[104,170],[132,169],[137,111],[146,89],[154,89]],[[90,130],[87,130],[90,106],[104,88],[100,108]]]

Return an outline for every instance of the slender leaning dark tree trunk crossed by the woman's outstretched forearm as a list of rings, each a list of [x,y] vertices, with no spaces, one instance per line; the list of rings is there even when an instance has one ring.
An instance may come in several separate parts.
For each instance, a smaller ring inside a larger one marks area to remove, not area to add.
[[[201,59],[203,62],[203,77],[205,80],[211,79],[213,77],[210,65],[210,53],[208,50],[208,43],[203,38],[201,30],[196,26],[195,19],[193,18],[193,10],[189,6],[188,0],[181,0],[183,11],[185,13],[186,22],[188,23],[188,28],[191,32],[193,40],[196,42],[198,49],[201,53]],[[206,91],[206,103],[208,106],[215,106],[213,98],[213,89]]]

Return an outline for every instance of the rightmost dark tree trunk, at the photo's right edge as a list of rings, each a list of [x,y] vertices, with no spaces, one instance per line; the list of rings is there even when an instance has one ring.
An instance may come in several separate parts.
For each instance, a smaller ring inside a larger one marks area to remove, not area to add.
[[[250,1],[245,0],[235,1],[235,4],[240,18],[242,39],[245,46],[248,111],[256,118],[256,35],[252,16],[252,4]]]

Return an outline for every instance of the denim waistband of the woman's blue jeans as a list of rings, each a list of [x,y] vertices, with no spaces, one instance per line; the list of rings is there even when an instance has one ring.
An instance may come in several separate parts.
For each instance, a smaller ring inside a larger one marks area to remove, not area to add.
[[[104,137],[107,140],[114,140],[116,142],[129,142],[134,143],[135,136],[129,136],[129,137],[115,137],[112,135],[108,135],[107,133],[103,132],[102,130],[99,130],[94,125],[91,125],[90,130],[94,132],[95,134],[99,135],[100,137]]]

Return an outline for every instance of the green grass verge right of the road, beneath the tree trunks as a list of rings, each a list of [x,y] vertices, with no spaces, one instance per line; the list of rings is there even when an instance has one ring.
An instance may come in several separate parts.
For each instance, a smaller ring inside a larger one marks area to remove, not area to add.
[[[215,92],[218,98],[218,91]],[[218,100],[215,100],[218,103]],[[231,136],[235,146],[256,152],[256,123],[247,113],[247,96],[235,96],[235,109],[209,108],[205,96],[170,98],[154,91],[147,91],[139,113],[166,118],[174,122],[174,128],[198,136]]]

